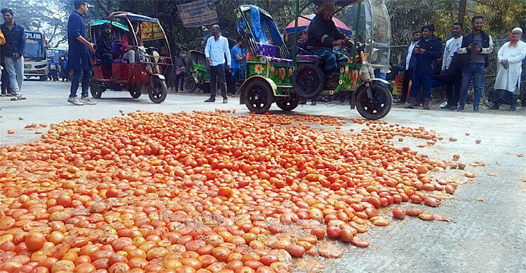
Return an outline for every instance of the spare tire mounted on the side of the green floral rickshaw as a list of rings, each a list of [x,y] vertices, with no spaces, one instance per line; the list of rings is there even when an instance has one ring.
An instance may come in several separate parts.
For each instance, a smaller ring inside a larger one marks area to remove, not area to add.
[[[323,91],[325,75],[316,64],[302,64],[292,75],[292,87],[299,97],[310,99]]]

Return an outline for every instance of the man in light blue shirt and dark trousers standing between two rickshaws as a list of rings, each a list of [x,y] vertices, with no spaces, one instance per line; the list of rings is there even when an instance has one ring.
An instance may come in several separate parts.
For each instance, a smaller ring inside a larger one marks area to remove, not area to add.
[[[227,57],[227,71],[230,71],[230,50],[229,41],[221,36],[219,25],[212,26],[212,36],[208,38],[205,46],[205,56],[210,64],[210,99],[205,102],[215,102],[215,92],[217,87],[221,90],[223,103],[228,103],[227,82],[224,80],[224,57]]]

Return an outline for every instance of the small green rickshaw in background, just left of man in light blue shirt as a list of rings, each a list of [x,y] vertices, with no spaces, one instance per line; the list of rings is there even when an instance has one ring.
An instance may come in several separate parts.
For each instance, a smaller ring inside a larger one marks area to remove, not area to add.
[[[190,50],[190,60],[193,64],[189,76],[184,80],[184,90],[194,92],[196,88],[210,90],[210,64],[206,61],[205,52]]]

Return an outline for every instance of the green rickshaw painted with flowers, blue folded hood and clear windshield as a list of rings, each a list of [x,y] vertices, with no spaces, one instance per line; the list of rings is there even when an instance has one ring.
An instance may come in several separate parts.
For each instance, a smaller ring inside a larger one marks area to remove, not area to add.
[[[389,82],[375,77],[374,73],[375,69],[389,71],[390,67],[391,25],[384,0],[335,1],[335,15],[346,25],[356,27],[353,36],[347,36],[345,45],[339,48],[348,60],[339,62],[338,82],[331,90],[325,88],[321,57],[298,42],[298,18],[311,20],[303,17],[302,12],[309,5],[320,6],[321,3],[323,1],[309,1],[300,8],[299,0],[295,1],[292,54],[265,10],[245,5],[234,11],[237,29],[249,53],[240,104],[255,113],[266,113],[273,102],[284,111],[292,111],[301,98],[315,98],[321,94],[348,95],[351,109],[356,107],[364,118],[383,118],[391,110],[393,100],[386,88]],[[358,12],[351,10],[353,8]],[[349,18],[355,19],[354,24]],[[365,18],[362,25],[360,18]]]

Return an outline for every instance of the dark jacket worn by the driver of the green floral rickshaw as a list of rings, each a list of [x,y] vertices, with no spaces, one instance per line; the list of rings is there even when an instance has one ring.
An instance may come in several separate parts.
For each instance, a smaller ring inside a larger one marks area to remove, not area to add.
[[[309,25],[309,38],[307,38],[308,48],[329,48],[332,49],[332,42],[345,38],[340,32],[335,22],[326,20],[322,14],[317,13]]]

